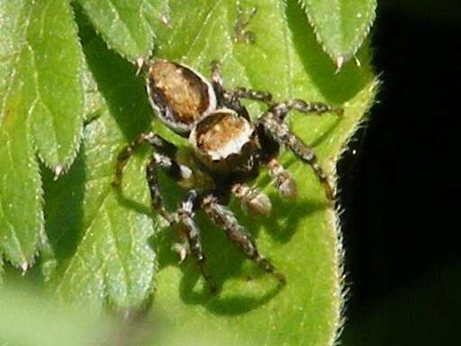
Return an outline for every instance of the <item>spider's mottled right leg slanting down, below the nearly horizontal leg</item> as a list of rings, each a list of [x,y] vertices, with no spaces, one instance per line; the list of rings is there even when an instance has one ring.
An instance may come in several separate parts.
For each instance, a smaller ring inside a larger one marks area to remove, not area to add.
[[[327,198],[329,200],[333,199],[333,188],[330,185],[330,181],[327,178],[327,175],[319,165],[315,152],[307,144],[305,144],[303,140],[294,135],[286,123],[283,123],[277,114],[274,114],[270,111],[267,112],[259,118],[258,126],[263,127],[267,136],[271,137],[279,144],[284,144],[286,147],[293,151],[294,155],[298,159],[301,159],[303,162],[310,165],[313,169],[313,172],[321,182],[321,185],[325,189],[325,195]]]

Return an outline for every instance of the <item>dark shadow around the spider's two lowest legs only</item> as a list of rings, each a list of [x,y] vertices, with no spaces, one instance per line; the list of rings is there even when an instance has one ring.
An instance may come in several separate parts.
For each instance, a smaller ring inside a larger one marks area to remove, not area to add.
[[[267,274],[248,263],[247,268],[242,266],[248,261],[230,241],[224,232],[214,227],[202,213],[195,218],[202,232],[203,252],[207,258],[207,269],[218,292],[212,293],[191,256],[179,264],[177,254],[171,250],[175,240],[175,232],[161,232],[155,241],[158,253],[159,270],[168,266],[179,268],[182,277],[179,282],[179,296],[186,305],[203,305],[208,311],[216,315],[245,314],[258,306],[267,304],[282,289],[275,278],[267,278]],[[248,269],[248,270],[247,270]],[[232,281],[231,289],[226,283]],[[257,282],[255,284],[255,282]],[[264,281],[265,285],[260,282]],[[267,284],[269,282],[269,284]],[[235,289],[242,287],[242,289]],[[255,293],[253,287],[258,287]],[[230,292],[232,293],[230,295]],[[235,292],[239,292],[235,294]]]

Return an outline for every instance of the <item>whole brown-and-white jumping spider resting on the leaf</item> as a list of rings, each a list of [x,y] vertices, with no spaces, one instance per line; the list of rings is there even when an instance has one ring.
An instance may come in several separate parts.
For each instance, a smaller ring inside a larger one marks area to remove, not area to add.
[[[227,90],[222,85],[216,62],[212,63],[211,82],[192,68],[165,59],[149,61],[144,69],[150,105],[167,127],[188,138],[196,169],[193,172],[177,162],[174,144],[154,132],[141,133],[119,153],[113,186],[120,187],[122,170],[133,151],[144,142],[149,143],[155,150],[146,168],[151,206],[170,225],[180,225],[184,241],[179,249],[181,259],[190,252],[198,262],[203,278],[212,289],[215,288],[205,268],[200,230],[194,222],[194,213],[201,208],[247,258],[284,283],[284,275],[259,254],[249,233],[226,205],[230,196],[235,196],[249,214],[270,213],[271,202],[267,195],[248,185],[258,177],[261,167],[267,168],[280,196],[296,198],[294,179],[276,160],[281,145],[312,167],[327,198],[332,201],[333,190],[315,153],[290,131],[284,119],[291,110],[342,114],[342,109],[298,99],[276,103],[270,94],[244,87]],[[240,99],[266,104],[267,110],[258,120],[251,121]],[[169,214],[162,205],[157,168],[163,168],[180,185],[192,182],[194,186],[185,194],[175,214]]]

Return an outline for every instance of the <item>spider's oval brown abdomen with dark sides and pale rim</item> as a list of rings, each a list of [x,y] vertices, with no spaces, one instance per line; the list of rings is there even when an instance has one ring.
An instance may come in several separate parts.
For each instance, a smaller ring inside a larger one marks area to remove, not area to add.
[[[210,83],[191,68],[164,59],[149,65],[146,86],[150,105],[173,131],[187,135],[216,108]]]

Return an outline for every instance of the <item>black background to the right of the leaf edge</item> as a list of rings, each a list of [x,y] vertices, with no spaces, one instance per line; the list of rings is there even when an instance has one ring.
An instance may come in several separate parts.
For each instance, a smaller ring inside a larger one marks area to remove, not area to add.
[[[461,5],[384,0],[372,46],[383,85],[339,164],[351,291],[342,340],[461,344]]]

